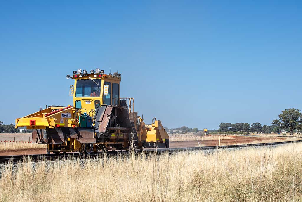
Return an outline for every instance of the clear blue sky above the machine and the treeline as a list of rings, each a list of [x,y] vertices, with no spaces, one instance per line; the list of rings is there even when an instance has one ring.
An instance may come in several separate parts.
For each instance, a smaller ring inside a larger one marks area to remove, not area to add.
[[[0,121],[72,104],[77,68],[122,75],[146,123],[271,124],[301,108],[300,1],[2,2]]]

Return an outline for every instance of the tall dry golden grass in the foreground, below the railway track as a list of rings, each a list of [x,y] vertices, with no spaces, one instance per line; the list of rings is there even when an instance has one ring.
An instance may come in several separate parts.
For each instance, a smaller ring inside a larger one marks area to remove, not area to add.
[[[302,144],[11,164],[0,174],[0,201],[301,201]]]

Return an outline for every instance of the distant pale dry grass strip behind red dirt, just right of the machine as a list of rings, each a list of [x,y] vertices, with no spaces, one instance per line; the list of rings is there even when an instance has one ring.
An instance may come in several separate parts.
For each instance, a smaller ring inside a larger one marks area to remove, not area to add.
[[[170,135],[169,141],[172,142],[179,142],[179,141],[202,141],[203,140],[229,140],[229,139],[235,139],[234,137],[230,136],[222,136],[222,135],[209,135],[209,136],[196,136],[196,135],[185,135],[185,134],[179,134],[179,135]]]

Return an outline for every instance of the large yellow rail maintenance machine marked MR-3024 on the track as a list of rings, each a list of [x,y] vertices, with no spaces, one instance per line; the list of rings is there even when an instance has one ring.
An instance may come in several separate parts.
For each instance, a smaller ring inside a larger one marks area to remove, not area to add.
[[[169,136],[161,121],[145,124],[134,112],[134,98],[120,97],[121,75],[104,70],[73,71],[67,79],[73,106],[49,106],[16,119],[16,128],[34,129],[38,144],[53,153],[98,150],[129,150],[143,147],[169,148]]]

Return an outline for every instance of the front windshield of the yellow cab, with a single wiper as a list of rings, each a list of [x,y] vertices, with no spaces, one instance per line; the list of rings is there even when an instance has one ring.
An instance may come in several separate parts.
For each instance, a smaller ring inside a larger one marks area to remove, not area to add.
[[[101,79],[79,79],[76,82],[76,97],[99,97],[101,92]]]

